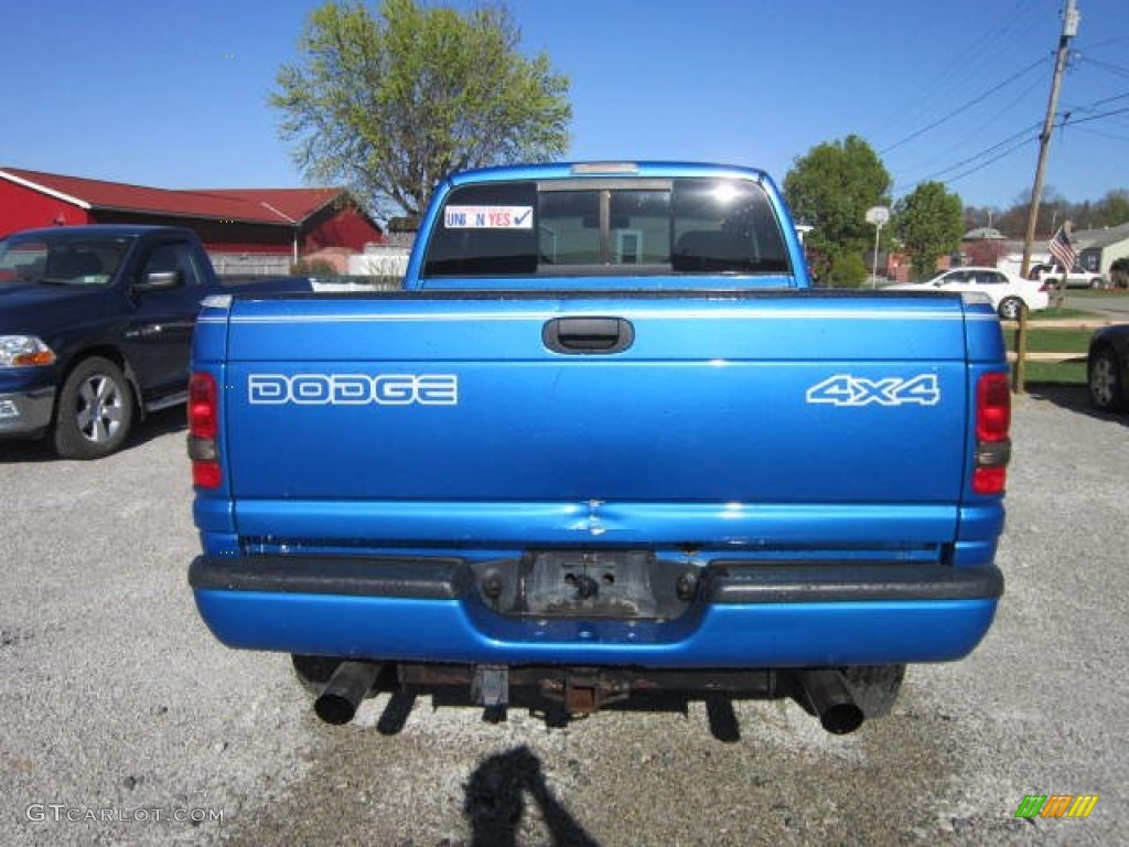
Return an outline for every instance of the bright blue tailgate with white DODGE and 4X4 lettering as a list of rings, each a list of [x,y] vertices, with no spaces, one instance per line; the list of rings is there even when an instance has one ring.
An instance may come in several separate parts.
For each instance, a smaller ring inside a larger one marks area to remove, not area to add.
[[[237,299],[229,320],[221,448],[245,536],[955,534],[957,297],[412,294]]]

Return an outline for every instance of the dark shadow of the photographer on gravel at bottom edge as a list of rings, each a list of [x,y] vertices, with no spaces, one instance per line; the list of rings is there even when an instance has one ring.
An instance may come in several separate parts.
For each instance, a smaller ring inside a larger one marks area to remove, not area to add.
[[[549,791],[541,759],[524,744],[484,759],[466,783],[463,814],[473,847],[516,847],[526,796],[536,803],[555,847],[597,847]]]

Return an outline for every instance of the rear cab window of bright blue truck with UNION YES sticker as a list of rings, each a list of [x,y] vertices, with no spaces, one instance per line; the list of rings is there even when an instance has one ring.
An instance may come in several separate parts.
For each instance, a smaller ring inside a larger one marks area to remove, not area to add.
[[[425,278],[790,272],[764,190],[734,178],[560,180],[456,187]]]

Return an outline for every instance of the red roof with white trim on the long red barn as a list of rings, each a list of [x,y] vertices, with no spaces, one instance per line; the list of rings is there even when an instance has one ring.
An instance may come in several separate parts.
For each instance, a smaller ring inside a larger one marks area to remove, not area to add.
[[[345,194],[344,189],[151,189],[79,176],[0,168],[0,178],[82,209],[149,212],[295,226]]]

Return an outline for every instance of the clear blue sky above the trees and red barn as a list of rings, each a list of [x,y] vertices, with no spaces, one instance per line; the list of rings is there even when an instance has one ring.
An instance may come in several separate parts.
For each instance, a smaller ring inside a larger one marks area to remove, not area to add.
[[[1059,103],[1070,121],[1047,174],[1074,202],[1129,189],[1129,2],[1077,3]],[[0,0],[0,166],[161,187],[303,185],[266,99],[318,5]],[[1031,190],[1061,5],[509,2],[523,50],[571,80],[569,158],[716,160],[782,182],[812,147],[855,133],[895,197],[935,178],[999,208]]]

